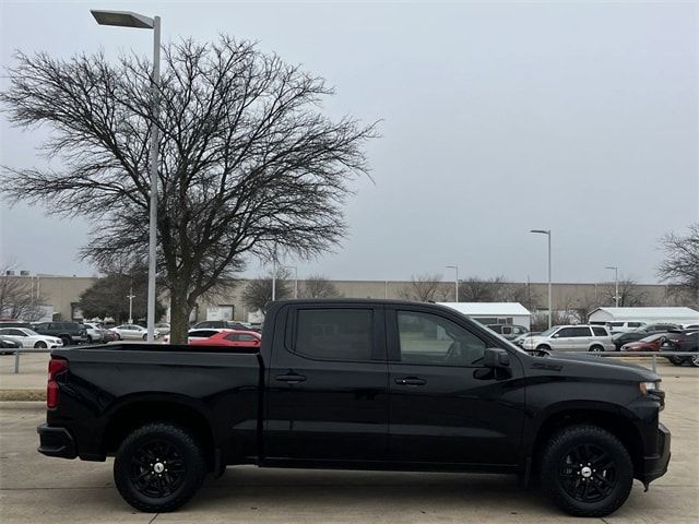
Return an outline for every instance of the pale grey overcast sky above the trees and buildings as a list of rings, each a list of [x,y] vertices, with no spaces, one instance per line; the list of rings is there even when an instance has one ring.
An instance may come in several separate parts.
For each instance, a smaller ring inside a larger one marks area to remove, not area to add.
[[[342,248],[299,277],[408,279],[441,273],[603,282],[607,265],[653,283],[657,239],[699,221],[696,2],[11,2],[15,49],[149,56],[152,34],[102,27],[88,9],[159,14],[164,40],[220,33],[259,41],[336,87],[329,115],[383,119],[376,183],[354,184]],[[4,80],[0,83],[7,86]],[[0,115],[0,164],[43,165],[45,130]],[[83,221],[0,204],[0,260],[92,275]],[[249,275],[258,271],[251,261]]]

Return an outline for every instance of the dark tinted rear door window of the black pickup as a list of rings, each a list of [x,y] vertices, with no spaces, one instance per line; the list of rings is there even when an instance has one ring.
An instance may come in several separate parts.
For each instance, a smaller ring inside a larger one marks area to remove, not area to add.
[[[299,309],[294,352],[322,360],[370,360],[370,309]]]

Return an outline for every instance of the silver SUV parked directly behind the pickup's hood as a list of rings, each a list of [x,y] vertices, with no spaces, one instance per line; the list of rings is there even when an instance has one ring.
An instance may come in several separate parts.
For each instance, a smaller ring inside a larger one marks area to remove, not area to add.
[[[613,352],[612,336],[604,325],[554,325],[524,340],[524,349],[554,352]]]

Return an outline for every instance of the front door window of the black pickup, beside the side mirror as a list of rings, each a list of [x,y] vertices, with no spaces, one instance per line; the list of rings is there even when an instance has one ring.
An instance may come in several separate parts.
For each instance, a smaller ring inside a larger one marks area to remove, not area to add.
[[[398,312],[401,361],[431,366],[473,366],[486,343],[442,317],[416,311]]]

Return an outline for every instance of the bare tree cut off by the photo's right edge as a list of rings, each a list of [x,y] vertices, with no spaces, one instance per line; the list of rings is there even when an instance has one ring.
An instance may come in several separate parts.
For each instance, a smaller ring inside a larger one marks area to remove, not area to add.
[[[684,288],[695,303],[699,303],[699,223],[690,225],[686,236],[665,235],[661,247],[665,251],[665,260],[657,269],[657,275]]]

